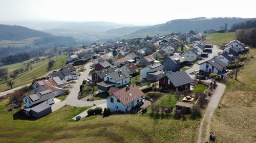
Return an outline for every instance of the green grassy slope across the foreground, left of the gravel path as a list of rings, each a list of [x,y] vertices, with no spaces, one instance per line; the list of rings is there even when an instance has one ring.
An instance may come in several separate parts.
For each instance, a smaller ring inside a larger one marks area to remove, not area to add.
[[[74,122],[86,110],[64,106],[50,115],[29,121],[13,120],[7,100],[0,102],[0,142],[195,142],[200,120],[152,119],[147,115],[92,116]]]

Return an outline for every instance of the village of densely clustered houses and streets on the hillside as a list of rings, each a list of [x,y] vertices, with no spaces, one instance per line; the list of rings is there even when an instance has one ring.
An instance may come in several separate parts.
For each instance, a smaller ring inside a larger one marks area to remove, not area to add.
[[[181,38],[186,39],[185,43],[180,42]],[[154,102],[145,96],[154,87],[183,96],[184,102],[178,101],[176,110],[190,109],[197,97],[182,93],[193,90],[199,80],[210,79],[212,74],[220,80],[225,78],[230,72],[226,67],[236,63],[236,58],[247,50],[238,40],[227,41],[221,48],[205,44],[197,32],[91,45],[70,53],[67,66],[34,81],[34,93],[23,98],[24,112],[41,118],[65,104],[100,106],[112,113],[139,108],[138,112]],[[94,102],[78,99],[81,84],[97,86],[97,91],[84,98],[103,93],[107,96]],[[57,101],[55,97],[66,94],[67,89],[67,99]],[[87,115],[81,113],[74,120]]]

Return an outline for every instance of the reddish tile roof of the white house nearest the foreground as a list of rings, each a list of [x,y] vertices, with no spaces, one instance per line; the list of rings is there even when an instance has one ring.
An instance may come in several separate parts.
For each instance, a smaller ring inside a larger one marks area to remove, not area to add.
[[[136,87],[136,85],[131,85],[127,90],[126,87],[123,89],[111,87],[108,92],[120,100],[124,106],[145,95],[138,87]]]

